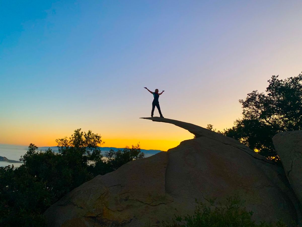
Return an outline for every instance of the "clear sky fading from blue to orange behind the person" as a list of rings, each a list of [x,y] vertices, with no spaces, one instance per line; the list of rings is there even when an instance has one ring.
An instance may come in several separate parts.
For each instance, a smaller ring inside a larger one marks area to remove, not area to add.
[[[56,146],[82,128],[104,146],[168,150],[222,130],[271,75],[302,71],[302,1],[0,1],[0,143]],[[155,116],[158,115],[157,109]]]

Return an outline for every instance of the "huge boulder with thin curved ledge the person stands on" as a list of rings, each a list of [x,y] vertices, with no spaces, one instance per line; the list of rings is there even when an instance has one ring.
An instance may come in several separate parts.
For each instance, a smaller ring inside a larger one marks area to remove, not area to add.
[[[300,219],[284,170],[232,138],[166,118],[197,138],[168,152],[129,162],[72,190],[44,213],[49,226],[161,226],[193,214],[195,199],[239,194],[253,219]]]

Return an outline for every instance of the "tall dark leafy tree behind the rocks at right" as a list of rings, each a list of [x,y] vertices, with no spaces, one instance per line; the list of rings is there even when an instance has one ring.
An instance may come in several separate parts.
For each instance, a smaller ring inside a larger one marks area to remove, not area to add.
[[[254,90],[239,100],[243,118],[223,134],[281,164],[271,138],[282,131],[302,129],[302,74],[284,80],[274,75],[268,83],[265,93]]]

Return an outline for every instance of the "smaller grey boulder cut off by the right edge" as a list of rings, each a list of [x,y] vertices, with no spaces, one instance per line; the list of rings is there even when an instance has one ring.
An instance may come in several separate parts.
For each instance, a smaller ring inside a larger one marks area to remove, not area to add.
[[[281,132],[273,137],[288,181],[302,204],[302,130]]]

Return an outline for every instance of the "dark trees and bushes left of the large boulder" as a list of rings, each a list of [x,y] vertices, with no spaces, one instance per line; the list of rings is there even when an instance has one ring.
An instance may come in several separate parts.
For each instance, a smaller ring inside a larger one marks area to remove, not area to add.
[[[139,144],[101,155],[101,136],[77,129],[57,139],[59,153],[30,144],[20,161],[0,167],[0,226],[45,226],[43,212],[66,193],[101,174],[144,157]]]

